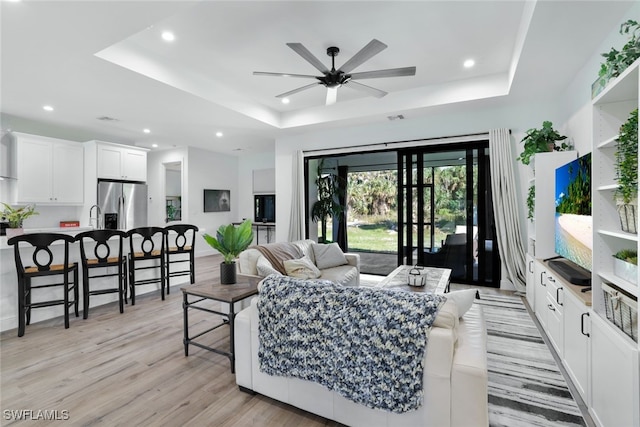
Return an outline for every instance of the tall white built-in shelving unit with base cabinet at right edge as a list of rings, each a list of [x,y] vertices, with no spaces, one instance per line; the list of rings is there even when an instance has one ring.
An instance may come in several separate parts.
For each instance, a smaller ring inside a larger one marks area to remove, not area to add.
[[[640,346],[607,319],[603,284],[638,298],[638,285],[613,274],[613,254],[639,249],[638,235],[623,232],[614,193],[616,138],[638,108],[640,60],[593,99],[593,310],[590,322],[589,407],[602,426],[640,425]],[[635,319],[636,328],[640,319]]]

